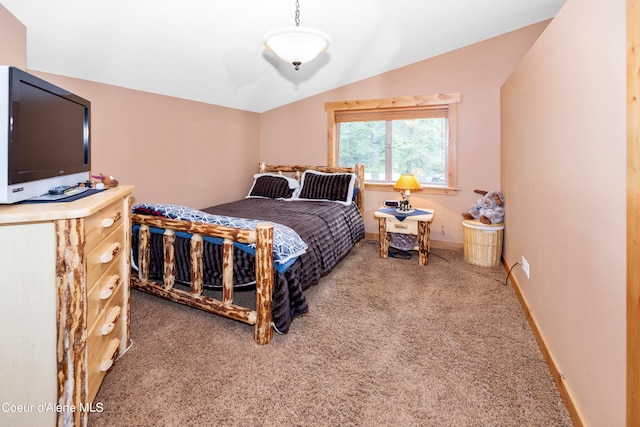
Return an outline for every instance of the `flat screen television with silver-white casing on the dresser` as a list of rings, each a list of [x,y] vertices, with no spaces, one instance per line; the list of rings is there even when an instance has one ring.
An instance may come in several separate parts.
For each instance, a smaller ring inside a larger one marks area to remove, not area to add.
[[[0,203],[89,179],[90,110],[86,99],[0,66]]]

